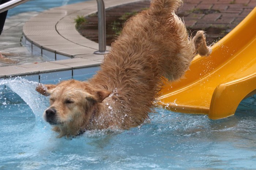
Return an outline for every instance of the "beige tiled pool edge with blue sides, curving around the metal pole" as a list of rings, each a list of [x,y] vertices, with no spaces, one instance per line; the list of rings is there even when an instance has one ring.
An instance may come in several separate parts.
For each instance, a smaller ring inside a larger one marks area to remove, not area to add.
[[[140,0],[105,0],[105,8]],[[99,66],[103,55],[93,54],[98,44],[75,29],[74,19],[97,12],[97,1],[85,1],[52,8],[31,17],[23,26],[22,43],[32,54],[47,56],[48,62],[0,67],[0,79],[24,77],[33,81],[63,79],[86,73]],[[109,47],[107,47],[107,50]]]

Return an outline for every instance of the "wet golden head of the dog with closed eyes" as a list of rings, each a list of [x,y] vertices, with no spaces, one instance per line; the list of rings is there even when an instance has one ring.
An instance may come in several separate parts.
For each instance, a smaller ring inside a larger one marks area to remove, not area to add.
[[[50,107],[45,110],[43,117],[63,135],[77,135],[80,128],[90,123],[97,104],[110,95],[110,92],[97,90],[90,83],[76,80],[63,81],[57,85],[40,84],[36,90],[50,96]]]

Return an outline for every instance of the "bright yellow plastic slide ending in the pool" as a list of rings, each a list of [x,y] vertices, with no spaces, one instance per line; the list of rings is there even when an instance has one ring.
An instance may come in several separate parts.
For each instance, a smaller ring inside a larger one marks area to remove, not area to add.
[[[234,115],[242,99],[256,94],[256,7],[209,57],[196,56],[184,79],[163,87],[159,104],[172,111],[210,119]]]

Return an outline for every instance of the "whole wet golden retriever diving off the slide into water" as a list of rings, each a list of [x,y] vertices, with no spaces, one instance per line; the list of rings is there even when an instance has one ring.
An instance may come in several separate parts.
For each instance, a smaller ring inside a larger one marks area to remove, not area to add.
[[[182,0],[152,0],[149,9],[125,23],[101,70],[87,82],[66,80],[37,87],[39,93],[50,95],[43,116],[59,137],[142,124],[152,111],[163,76],[180,79],[197,52],[210,55],[204,32],[189,37],[175,14],[181,5]]]

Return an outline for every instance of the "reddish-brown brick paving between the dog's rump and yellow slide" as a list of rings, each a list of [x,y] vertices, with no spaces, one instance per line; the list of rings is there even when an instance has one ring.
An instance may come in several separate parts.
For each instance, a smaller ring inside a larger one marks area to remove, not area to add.
[[[191,31],[203,29],[215,42],[230,32],[256,6],[256,0],[184,0],[178,10]]]

